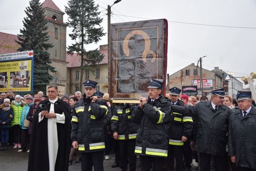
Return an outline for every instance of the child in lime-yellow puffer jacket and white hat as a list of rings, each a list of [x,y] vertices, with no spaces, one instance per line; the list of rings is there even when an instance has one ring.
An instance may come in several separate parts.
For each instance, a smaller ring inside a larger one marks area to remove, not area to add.
[[[25,103],[21,100],[20,95],[15,96],[15,101],[12,101],[11,108],[14,112],[14,118],[12,120],[12,129],[14,130],[14,141],[15,145],[13,148],[21,148],[21,132],[22,128],[19,126],[20,116]]]

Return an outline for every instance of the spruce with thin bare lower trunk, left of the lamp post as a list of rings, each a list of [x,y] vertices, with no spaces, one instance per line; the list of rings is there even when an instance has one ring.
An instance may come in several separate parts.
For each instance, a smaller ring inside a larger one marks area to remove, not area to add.
[[[85,49],[85,45],[99,42],[106,34],[100,27],[103,18],[99,17],[98,8],[99,4],[95,5],[93,0],[69,0],[68,7],[65,6],[65,12],[68,15],[67,24],[72,28],[69,36],[75,40],[75,43],[68,46],[68,53],[76,52],[81,56],[80,91],[83,89],[84,69],[94,73],[96,64],[104,57],[97,49],[92,51]]]

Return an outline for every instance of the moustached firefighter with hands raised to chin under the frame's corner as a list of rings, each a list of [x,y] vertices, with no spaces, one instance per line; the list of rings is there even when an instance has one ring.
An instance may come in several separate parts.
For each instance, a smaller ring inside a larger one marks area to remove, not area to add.
[[[167,129],[171,120],[171,103],[161,93],[163,83],[152,79],[149,97],[141,97],[140,104],[132,111],[131,120],[140,124],[137,131],[135,154],[140,155],[141,170],[162,170],[168,154]]]

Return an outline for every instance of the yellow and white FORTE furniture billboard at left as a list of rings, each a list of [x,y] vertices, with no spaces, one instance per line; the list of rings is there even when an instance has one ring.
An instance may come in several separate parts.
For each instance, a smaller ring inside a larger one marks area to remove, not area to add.
[[[0,55],[0,92],[33,91],[33,51]]]

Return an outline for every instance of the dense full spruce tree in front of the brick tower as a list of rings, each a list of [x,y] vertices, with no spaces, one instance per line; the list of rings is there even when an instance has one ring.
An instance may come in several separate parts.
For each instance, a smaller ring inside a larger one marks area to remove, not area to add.
[[[24,28],[20,29],[18,41],[15,41],[20,45],[17,49],[19,52],[34,51],[33,94],[37,94],[38,91],[45,91],[46,85],[53,79],[49,71],[55,72],[55,68],[49,65],[52,61],[46,51],[53,45],[46,43],[49,40],[47,20],[44,19],[44,10],[39,0],[29,1],[25,13],[27,17],[23,20]]]

